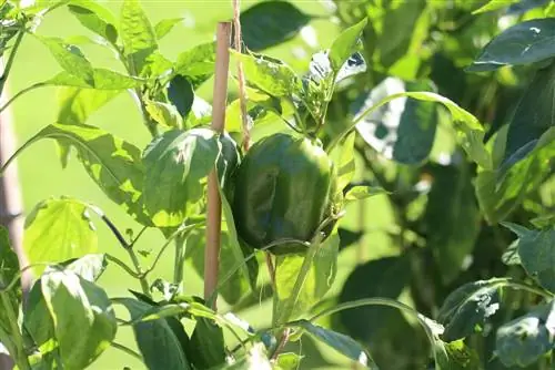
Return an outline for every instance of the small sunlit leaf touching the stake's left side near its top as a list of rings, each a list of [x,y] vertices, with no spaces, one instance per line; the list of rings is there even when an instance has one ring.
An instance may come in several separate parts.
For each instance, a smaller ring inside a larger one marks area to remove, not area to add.
[[[185,76],[193,85],[193,90],[214,74],[215,42],[199,44],[178,55],[175,74]]]

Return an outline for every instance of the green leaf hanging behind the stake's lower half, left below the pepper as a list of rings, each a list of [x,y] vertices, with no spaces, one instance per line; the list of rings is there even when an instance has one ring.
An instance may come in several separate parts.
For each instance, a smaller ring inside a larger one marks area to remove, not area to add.
[[[219,294],[228,304],[235,305],[256,287],[259,265],[255,258],[245,261],[245,258],[253,253],[253,249],[239,241],[233,214],[223,194],[222,214],[218,267],[221,284]],[[185,249],[200,276],[204,276],[204,246],[206,245],[204,235],[204,228],[195,230],[192,237],[186,240]],[[232,273],[233,275],[230,276]]]

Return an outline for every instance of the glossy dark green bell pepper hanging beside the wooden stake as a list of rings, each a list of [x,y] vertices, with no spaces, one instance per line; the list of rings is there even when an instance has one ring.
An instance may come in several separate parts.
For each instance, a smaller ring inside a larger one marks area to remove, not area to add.
[[[309,138],[274,134],[256,142],[235,177],[239,236],[253,248],[284,238],[310,241],[332,213],[335,181],[332,161]],[[275,255],[305,250],[300,244],[270,249]]]

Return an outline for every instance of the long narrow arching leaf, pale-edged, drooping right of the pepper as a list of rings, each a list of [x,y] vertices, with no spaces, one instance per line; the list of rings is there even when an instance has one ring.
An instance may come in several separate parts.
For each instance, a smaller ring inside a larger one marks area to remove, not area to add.
[[[492,157],[483,143],[484,130],[480,124],[478,120],[474,115],[472,115],[471,113],[458,106],[456,103],[448,100],[447,97],[444,97],[442,95],[432,92],[395,93],[385,99],[382,99],[380,102],[373,102],[371,95],[367,99],[367,103],[364,104],[366,109],[361,110],[357,113],[354,123],[359,125],[360,121],[362,120],[366,121],[366,116],[369,114],[373,114],[381,106],[387,104],[389,102],[395,99],[403,96],[413,97],[424,102],[435,102],[443,104],[450,111],[451,116],[453,119],[453,124],[458,134],[458,140],[461,141],[463,148],[468,154],[471,160],[476,162],[480,166],[484,167],[485,169],[492,168],[493,166]],[[362,123],[364,127],[364,122]],[[359,130],[359,127],[356,129]],[[364,135],[364,133],[361,132],[361,135]]]

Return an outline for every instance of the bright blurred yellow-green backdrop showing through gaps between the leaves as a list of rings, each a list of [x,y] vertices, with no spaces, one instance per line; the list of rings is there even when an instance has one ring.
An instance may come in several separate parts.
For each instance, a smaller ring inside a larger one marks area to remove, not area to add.
[[[114,14],[119,13],[121,6],[120,1],[100,2],[111,9]],[[241,1],[242,8],[251,7],[256,2],[258,1]],[[304,12],[310,14],[324,16],[329,12],[324,1],[293,2]],[[165,18],[183,17],[183,22],[178,24],[160,43],[161,51],[171,60],[174,60],[180,52],[195,44],[213,40],[216,22],[230,20],[232,17],[231,1],[228,0],[142,1],[142,4],[153,24]],[[339,27],[329,20],[315,19],[295,38],[295,40],[293,40],[293,42],[287,42],[285,45],[266,50],[265,53],[283,59],[299,72],[302,72],[306,68],[309,55],[319,49],[329,47]],[[49,14],[49,17],[46,17],[38,33],[61,38],[72,35],[93,37],[93,34],[81,27],[64,8],[58,9]],[[314,43],[314,35],[316,43]],[[122,71],[122,66],[114,59],[114,55],[111,55],[105,49],[95,45],[83,45],[82,50],[95,66],[105,66]],[[300,55],[304,56],[300,58]],[[50,55],[48,50],[32,37],[27,37],[12,70],[11,81],[8,85],[9,93],[13,94],[32,83],[47,80],[60,70],[60,66]],[[211,101],[212,83],[212,80],[208,81],[199,91],[200,95],[208,101]],[[233,93],[233,82],[230,82],[230,89],[232,90],[231,93]],[[18,99],[12,105],[12,114],[18,144],[21,145],[43,126],[53,123],[56,120],[56,88],[39,89]],[[137,106],[131,100],[131,96],[125,93],[122,93],[94,113],[89,123],[103,127],[114,135],[134,143],[141,148],[150,141],[150,134],[142,125],[142,120]],[[41,141],[32,145],[18,158],[17,164],[19,167],[26,213],[29,213],[32,207],[42,199],[51,196],[67,195],[99,206],[120,230],[131,228],[138,233],[141,229],[140,225],[134,223],[133,219],[119,208],[119,206],[111,203],[110,199],[103,195],[78,161],[70,161],[65,169],[61,168],[53,142]],[[350,207],[347,209],[347,216],[341,222],[342,226],[345,228],[359,228],[360,207],[366,207],[369,210],[366,212],[364,224],[372,225],[372,229],[365,227],[366,234],[361,241],[365,245],[365,250],[372,250],[372,255],[362,256],[362,260],[394,253],[389,249],[389,239],[385,237],[385,234],[380,232],[380,229],[384,229],[387,225],[393,223],[392,215],[387,209],[387,203],[384,198],[380,196],[374,197],[356,206]],[[117,239],[100,220],[97,222],[97,228],[101,251],[109,251],[127,260],[127,254],[123,253]],[[155,230],[148,230],[139,241],[138,248],[152,249],[155,251],[162,244],[163,237],[161,234]],[[361,256],[356,256],[356,253],[359,251],[351,248],[341,254],[337,279],[334,289],[329,292],[330,296],[337,294],[346,275],[353,268],[354,258],[361,260]],[[171,267],[173,266],[172,256],[172,251],[168,250],[152,276],[170,279],[172,274]],[[145,265],[148,265],[148,260],[144,260]],[[111,297],[128,296],[128,288],[140,290],[137,280],[128,277],[113,265],[104,273],[100,284],[107,289]],[[202,280],[189,266],[185,267],[185,292],[202,295]],[[226,309],[223,301],[220,304],[220,309]],[[260,305],[255,305],[238,314],[253,327],[261,328],[270,325],[270,311],[271,301],[263,301]],[[121,328],[119,330],[117,341],[132,348],[135,347],[132,332],[128,328]],[[342,357],[332,353],[331,350],[326,350],[324,358],[326,359],[324,362],[322,362],[321,359],[316,359],[316,362],[323,363],[323,367],[304,361],[303,369],[316,367],[322,369],[343,368],[341,366],[342,361],[344,361]],[[326,366],[325,362],[327,361],[336,364]],[[111,370],[123,369],[124,367],[143,369],[143,366],[132,357],[115,349],[107,350],[100,359],[93,363],[91,369]]]

